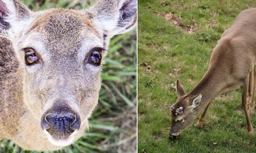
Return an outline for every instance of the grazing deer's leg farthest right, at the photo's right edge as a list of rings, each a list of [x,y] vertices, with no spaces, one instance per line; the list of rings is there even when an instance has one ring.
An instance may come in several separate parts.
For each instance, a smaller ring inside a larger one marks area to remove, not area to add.
[[[255,95],[255,87],[256,87],[255,83],[256,83],[256,71],[254,68],[253,71],[250,73],[250,82],[249,82],[248,113],[250,117],[254,115],[254,95]]]

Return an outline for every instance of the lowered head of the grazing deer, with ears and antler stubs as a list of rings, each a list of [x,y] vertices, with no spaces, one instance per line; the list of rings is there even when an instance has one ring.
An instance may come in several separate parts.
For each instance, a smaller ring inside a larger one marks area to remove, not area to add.
[[[189,97],[185,95],[184,89],[179,81],[176,82],[176,91],[178,94],[177,103],[171,106],[172,124],[170,128],[170,138],[177,138],[184,129],[186,129],[195,119],[202,95]]]

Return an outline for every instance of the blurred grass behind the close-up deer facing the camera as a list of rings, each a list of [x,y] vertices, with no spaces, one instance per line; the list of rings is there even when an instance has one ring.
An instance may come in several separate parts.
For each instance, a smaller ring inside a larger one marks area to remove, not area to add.
[[[33,10],[44,10],[51,7],[88,8],[93,1],[24,0],[23,2]],[[90,119],[90,129],[74,145],[58,152],[123,152],[127,149],[136,149],[135,29],[111,40],[105,61],[99,105]],[[4,140],[0,142],[0,152],[28,153],[29,151]]]

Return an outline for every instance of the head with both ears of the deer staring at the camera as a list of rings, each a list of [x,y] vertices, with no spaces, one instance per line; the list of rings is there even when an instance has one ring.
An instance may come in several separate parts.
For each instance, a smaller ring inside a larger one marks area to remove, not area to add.
[[[0,0],[0,15],[0,36],[12,40],[22,69],[24,102],[53,145],[69,145],[88,128],[109,40],[134,27],[136,1],[31,12]]]

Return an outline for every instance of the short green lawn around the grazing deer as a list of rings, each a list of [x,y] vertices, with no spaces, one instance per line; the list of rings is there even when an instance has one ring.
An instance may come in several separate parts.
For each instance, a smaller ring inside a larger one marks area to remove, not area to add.
[[[168,133],[175,81],[191,91],[223,31],[256,2],[140,0],[138,5],[138,152],[255,152],[256,136],[247,133],[240,89],[214,100],[203,128],[193,126],[196,118],[179,139],[171,141]],[[170,12],[184,25],[195,22],[196,31],[189,34],[167,22],[164,15]],[[252,117],[253,127],[255,122]]]

